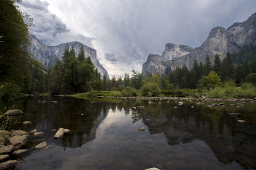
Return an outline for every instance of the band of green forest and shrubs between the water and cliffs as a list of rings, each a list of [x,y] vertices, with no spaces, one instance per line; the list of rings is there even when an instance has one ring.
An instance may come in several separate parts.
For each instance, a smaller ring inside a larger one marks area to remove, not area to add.
[[[68,43],[52,68],[45,68],[31,58],[29,28],[33,19],[17,10],[17,1],[0,1],[0,97],[2,100],[24,94],[65,95],[86,93],[91,96],[194,96],[256,97],[256,47],[244,47],[237,54],[211,62],[196,60],[191,70],[177,67],[168,74],[148,74],[132,70],[122,77],[100,78],[90,56],[81,46],[78,57]]]

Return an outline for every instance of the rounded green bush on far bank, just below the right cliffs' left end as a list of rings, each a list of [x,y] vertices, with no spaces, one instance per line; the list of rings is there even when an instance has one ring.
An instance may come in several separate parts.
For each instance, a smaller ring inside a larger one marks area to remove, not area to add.
[[[148,95],[152,95],[153,97],[156,97],[161,93],[161,89],[156,84],[156,82],[147,82],[141,87],[140,91],[141,91],[141,95],[144,97]]]

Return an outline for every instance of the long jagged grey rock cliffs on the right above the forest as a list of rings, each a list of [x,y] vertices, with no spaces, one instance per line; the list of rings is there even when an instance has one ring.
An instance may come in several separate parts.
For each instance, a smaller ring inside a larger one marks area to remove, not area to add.
[[[168,70],[175,70],[177,66],[188,66],[193,68],[194,61],[204,63],[209,55],[211,61],[214,61],[216,54],[223,59],[227,52],[237,53],[243,47],[256,45],[256,13],[248,20],[235,23],[226,30],[223,27],[214,27],[209,36],[200,47],[192,49],[184,45],[175,45],[168,43],[162,56],[156,61],[148,56],[147,62],[143,64],[142,72],[148,73],[166,73]],[[155,55],[158,56],[158,55]]]

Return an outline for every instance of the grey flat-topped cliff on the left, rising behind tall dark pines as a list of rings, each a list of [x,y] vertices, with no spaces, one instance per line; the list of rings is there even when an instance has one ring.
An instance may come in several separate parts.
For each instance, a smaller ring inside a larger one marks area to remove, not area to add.
[[[66,47],[66,43],[61,43],[60,45],[56,46],[47,46],[38,40],[35,35],[30,35],[29,38],[31,45],[28,47],[28,51],[31,52],[32,57],[37,61],[40,61],[47,67],[52,67],[57,59],[61,59],[61,56]],[[70,42],[68,44],[70,48],[72,46],[74,47],[76,56],[79,54],[81,45],[83,45],[85,57],[90,56],[93,65],[95,65],[101,77],[103,77],[105,74],[107,79],[109,79],[107,70],[102,65],[100,65],[100,62],[97,59],[97,51],[95,49],[92,49],[80,42]]]

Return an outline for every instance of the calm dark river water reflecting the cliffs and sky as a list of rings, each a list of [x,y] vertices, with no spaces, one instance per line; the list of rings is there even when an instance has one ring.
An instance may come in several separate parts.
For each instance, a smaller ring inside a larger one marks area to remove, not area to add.
[[[256,106],[230,104],[208,108],[193,102],[24,98],[15,108],[25,113],[21,121],[32,123],[15,128],[36,128],[45,135],[29,138],[30,151],[15,169],[255,169]],[[238,123],[230,112],[240,112],[248,123]],[[52,129],[61,127],[72,134],[54,139]],[[32,149],[42,141],[55,147]]]

